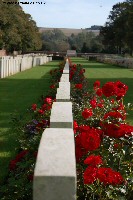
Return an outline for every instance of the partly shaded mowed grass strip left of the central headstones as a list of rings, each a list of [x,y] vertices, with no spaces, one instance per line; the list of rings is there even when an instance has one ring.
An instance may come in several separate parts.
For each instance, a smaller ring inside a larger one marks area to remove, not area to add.
[[[7,175],[9,161],[18,147],[16,133],[11,130],[11,114],[26,113],[33,103],[38,103],[42,94],[47,95],[51,77],[49,71],[58,66],[52,61],[44,66],[0,79],[0,182]]]

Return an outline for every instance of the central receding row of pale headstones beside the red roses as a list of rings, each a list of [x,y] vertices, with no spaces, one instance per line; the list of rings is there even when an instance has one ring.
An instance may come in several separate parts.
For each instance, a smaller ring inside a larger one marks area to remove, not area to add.
[[[69,63],[52,104],[50,128],[40,141],[33,183],[34,200],[76,200],[76,161],[70,101]]]

